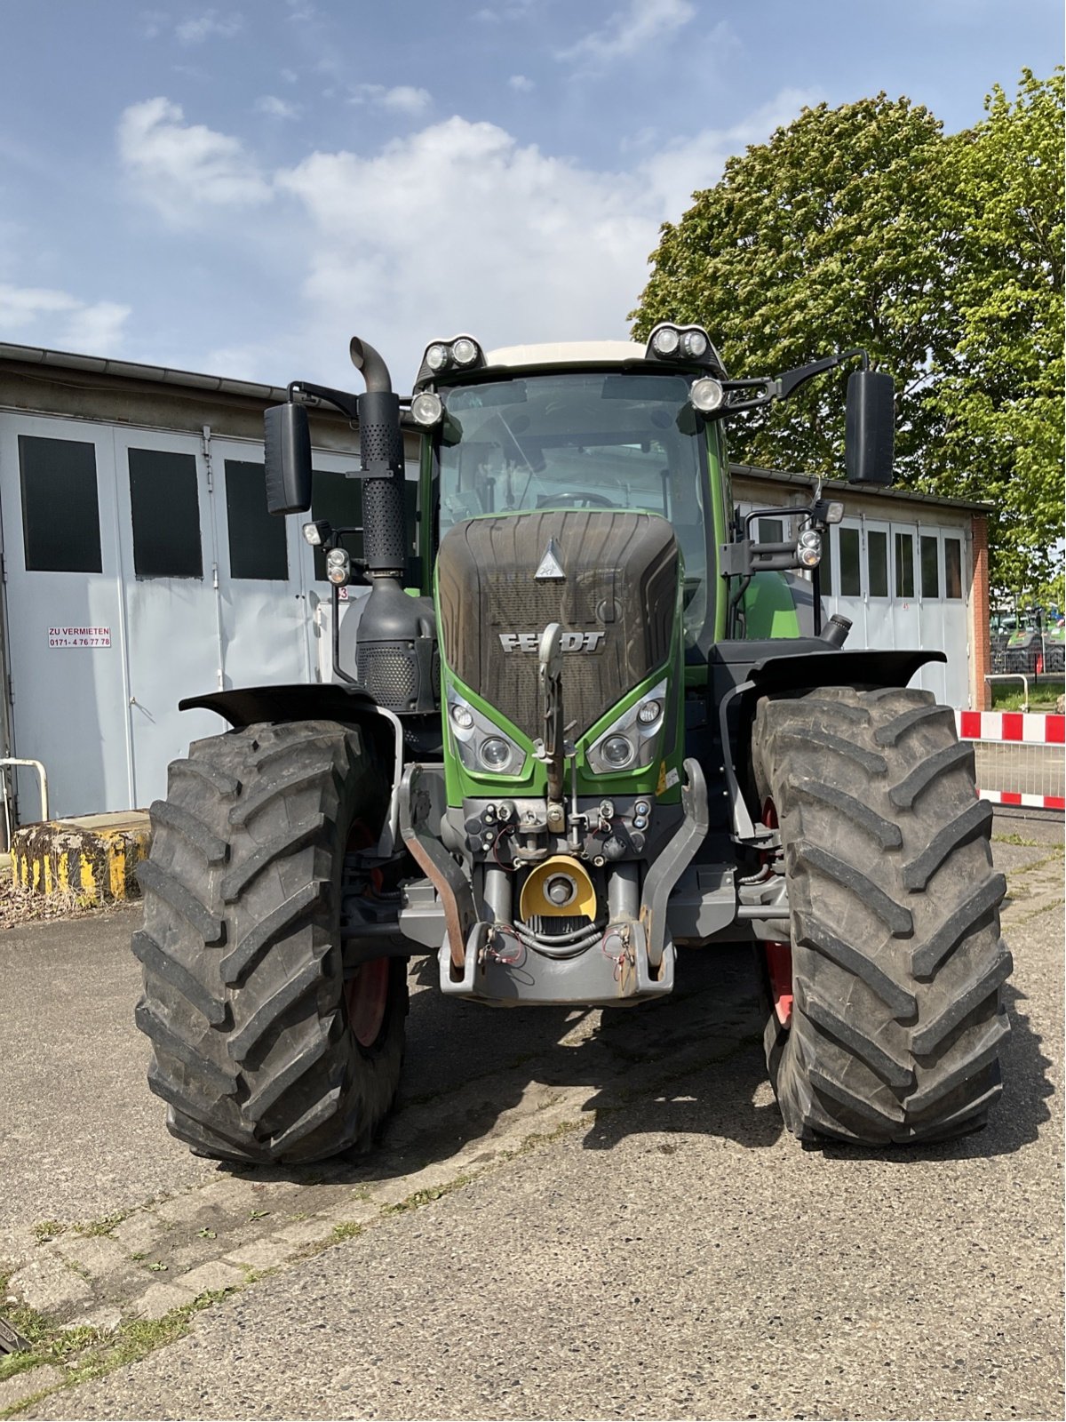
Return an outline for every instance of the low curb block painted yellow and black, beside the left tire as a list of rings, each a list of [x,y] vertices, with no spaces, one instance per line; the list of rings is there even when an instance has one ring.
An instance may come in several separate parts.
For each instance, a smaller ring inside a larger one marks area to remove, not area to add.
[[[24,825],[11,835],[11,879],[33,893],[75,893],[94,903],[139,899],[134,870],[148,857],[148,815],[85,815]]]

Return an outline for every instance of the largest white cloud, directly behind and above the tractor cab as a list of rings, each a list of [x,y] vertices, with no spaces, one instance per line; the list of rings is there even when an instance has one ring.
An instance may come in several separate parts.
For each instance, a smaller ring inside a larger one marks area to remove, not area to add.
[[[659,225],[807,98],[782,95],[618,172],[458,117],[375,156],[313,154],[276,175],[303,210],[307,327],[294,358],[308,378],[344,378],[348,337],[364,334],[402,383],[428,340],[459,330],[489,346],[625,336]]]

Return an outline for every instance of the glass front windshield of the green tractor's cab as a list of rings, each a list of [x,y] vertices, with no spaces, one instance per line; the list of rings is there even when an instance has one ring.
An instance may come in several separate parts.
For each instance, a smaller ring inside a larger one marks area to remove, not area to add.
[[[685,638],[695,641],[706,616],[706,475],[684,375],[527,375],[441,395],[442,538],[486,513],[658,513],[681,545]]]

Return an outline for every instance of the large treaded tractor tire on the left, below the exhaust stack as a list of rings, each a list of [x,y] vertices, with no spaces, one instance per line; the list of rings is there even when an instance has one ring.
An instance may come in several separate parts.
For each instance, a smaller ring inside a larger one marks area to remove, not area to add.
[[[345,983],[345,853],[377,838],[388,789],[358,729],[253,725],[175,761],[141,866],[136,1025],[172,1135],[222,1160],[365,1149],[399,1081],[402,960]]]

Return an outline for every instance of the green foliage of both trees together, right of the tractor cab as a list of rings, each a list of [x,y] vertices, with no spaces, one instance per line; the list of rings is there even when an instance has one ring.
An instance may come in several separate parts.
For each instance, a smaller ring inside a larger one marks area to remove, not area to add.
[[[907,98],[804,109],[667,223],[631,313],[705,326],[731,375],[866,347],[897,383],[897,482],[985,499],[994,579],[1050,574],[1062,518],[1062,71],[945,137]],[[833,475],[847,371],[731,424],[748,464]]]

